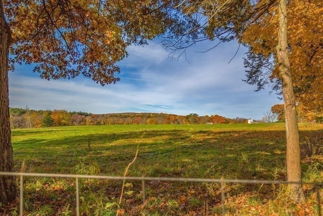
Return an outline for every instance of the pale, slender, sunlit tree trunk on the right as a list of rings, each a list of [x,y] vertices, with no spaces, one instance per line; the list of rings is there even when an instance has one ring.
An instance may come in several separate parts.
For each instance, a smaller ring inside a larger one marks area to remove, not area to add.
[[[283,97],[285,105],[286,120],[286,166],[287,181],[301,181],[300,147],[296,116],[296,102],[293,92],[293,82],[291,68],[288,58],[287,44],[287,5],[286,0],[279,1],[279,31],[277,60],[279,65],[279,75],[283,83]],[[290,195],[296,202],[305,200],[300,184],[289,185]]]

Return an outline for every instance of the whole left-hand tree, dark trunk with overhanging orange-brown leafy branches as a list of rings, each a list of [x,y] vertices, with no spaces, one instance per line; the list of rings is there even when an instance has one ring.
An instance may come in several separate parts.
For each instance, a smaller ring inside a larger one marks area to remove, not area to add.
[[[33,71],[45,79],[82,74],[101,85],[115,83],[120,72],[116,62],[127,56],[126,48],[145,45],[167,30],[169,4],[0,0],[0,171],[14,170],[8,97],[8,70],[14,63],[35,63]],[[0,177],[0,191],[3,205],[13,201],[15,178]]]

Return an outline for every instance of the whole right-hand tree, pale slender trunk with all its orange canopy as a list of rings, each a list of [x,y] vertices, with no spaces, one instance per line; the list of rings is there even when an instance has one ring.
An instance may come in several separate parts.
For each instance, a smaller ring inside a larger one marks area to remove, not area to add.
[[[320,0],[182,1],[177,8],[188,17],[164,40],[174,57],[206,39],[217,42],[213,48],[234,39],[249,48],[246,81],[256,84],[257,90],[273,84],[284,98],[287,180],[292,182],[301,181],[295,96],[315,109],[323,101],[322,4]],[[304,200],[299,184],[289,188],[296,202]]]

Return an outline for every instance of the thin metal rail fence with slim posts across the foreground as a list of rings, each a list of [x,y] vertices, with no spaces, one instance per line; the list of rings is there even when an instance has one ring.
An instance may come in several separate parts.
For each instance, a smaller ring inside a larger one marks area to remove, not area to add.
[[[76,215],[80,215],[79,203],[79,179],[110,179],[110,180],[134,180],[142,182],[142,201],[145,203],[145,181],[165,181],[165,182],[199,182],[199,183],[220,183],[221,184],[221,199],[223,214],[226,215],[225,207],[225,183],[235,184],[309,184],[315,186],[317,212],[321,216],[320,194],[319,187],[323,186],[323,182],[287,182],[287,181],[270,181],[270,180],[227,180],[227,179],[200,179],[200,178],[163,178],[163,177],[115,177],[115,176],[90,176],[90,175],[70,175],[70,174],[36,174],[26,172],[0,172],[0,176],[17,176],[20,177],[20,215],[23,215],[23,178],[24,177],[54,177],[54,178],[73,178],[75,179],[76,193]]]

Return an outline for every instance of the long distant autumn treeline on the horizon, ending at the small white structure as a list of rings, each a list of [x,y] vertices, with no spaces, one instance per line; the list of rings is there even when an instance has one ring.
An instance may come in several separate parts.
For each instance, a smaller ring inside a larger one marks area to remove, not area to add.
[[[247,123],[248,119],[241,117],[231,119],[220,115],[199,116],[196,113],[186,116],[166,113],[92,114],[66,110],[10,108],[10,122],[11,128],[28,128],[109,124],[228,124]]]

